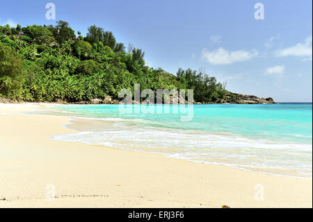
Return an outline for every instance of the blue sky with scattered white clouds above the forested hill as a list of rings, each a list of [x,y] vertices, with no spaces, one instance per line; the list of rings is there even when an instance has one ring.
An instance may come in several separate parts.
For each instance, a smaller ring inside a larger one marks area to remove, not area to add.
[[[312,102],[312,1],[3,1],[0,25],[55,24],[86,34],[96,24],[145,51],[147,65],[175,74],[204,69],[235,93]],[[255,3],[264,19],[255,19]]]

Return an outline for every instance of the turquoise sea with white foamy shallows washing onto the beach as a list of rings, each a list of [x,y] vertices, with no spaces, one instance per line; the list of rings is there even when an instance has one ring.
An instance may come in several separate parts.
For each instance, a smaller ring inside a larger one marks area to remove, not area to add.
[[[131,105],[126,111],[119,105],[58,105],[54,111],[84,117],[67,126],[78,134],[58,139],[312,177],[312,104]]]

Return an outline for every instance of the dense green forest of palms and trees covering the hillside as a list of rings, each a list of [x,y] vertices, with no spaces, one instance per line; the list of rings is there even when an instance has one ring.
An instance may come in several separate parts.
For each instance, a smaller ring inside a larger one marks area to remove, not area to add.
[[[90,26],[85,37],[67,22],[55,26],[0,26],[0,97],[23,101],[89,101],[134,84],[141,88],[193,89],[196,102],[221,102],[227,91],[215,77],[179,68],[176,75],[145,65],[142,49],[117,42],[111,31]],[[228,95],[227,95],[228,96]]]

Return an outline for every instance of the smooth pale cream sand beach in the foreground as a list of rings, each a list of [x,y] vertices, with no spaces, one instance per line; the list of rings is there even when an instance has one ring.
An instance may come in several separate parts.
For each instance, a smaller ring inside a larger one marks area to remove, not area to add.
[[[52,140],[45,106],[0,104],[0,207],[312,207],[312,179]]]

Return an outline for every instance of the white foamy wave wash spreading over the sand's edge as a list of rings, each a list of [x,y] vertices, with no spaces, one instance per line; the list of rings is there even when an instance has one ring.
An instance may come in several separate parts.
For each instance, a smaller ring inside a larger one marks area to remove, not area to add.
[[[52,138],[164,154],[170,158],[230,166],[257,173],[312,177],[310,144],[274,143],[266,139],[200,130],[134,127],[129,125],[129,121],[116,118],[110,119],[115,122],[113,125],[105,123],[106,119],[101,119],[102,122],[97,120],[99,119],[92,121],[90,118],[73,118],[67,125],[70,129],[101,127],[101,130],[77,130],[77,134],[56,135]],[[296,173],[290,173],[291,169]]]

